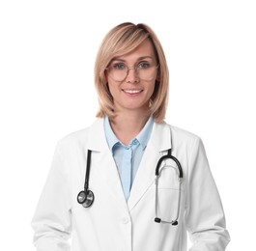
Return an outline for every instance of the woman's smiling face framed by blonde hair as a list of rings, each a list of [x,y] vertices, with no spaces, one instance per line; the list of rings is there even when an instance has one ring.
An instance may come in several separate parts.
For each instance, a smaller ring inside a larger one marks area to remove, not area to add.
[[[122,80],[117,81],[111,76],[110,71],[107,73],[108,87],[114,100],[115,111],[148,112],[157,75],[156,55],[152,43],[145,41],[128,54],[114,58],[110,64],[110,68],[115,70],[122,70],[126,66],[129,69],[128,74]],[[152,68],[150,77],[146,69],[149,66]],[[143,77],[145,72],[147,77]]]

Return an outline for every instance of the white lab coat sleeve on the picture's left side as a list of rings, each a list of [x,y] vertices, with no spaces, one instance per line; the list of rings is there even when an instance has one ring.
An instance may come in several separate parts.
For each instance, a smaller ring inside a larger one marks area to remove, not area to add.
[[[71,201],[69,172],[58,144],[32,220],[37,251],[70,251]]]

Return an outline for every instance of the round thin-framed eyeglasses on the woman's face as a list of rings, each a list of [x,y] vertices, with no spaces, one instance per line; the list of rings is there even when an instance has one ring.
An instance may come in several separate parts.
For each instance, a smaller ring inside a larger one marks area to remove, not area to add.
[[[110,65],[107,70],[108,75],[115,81],[122,82],[128,76],[129,70],[135,70],[136,75],[142,80],[151,80],[156,76],[158,66],[148,62],[141,62],[137,66],[129,68],[124,63]]]

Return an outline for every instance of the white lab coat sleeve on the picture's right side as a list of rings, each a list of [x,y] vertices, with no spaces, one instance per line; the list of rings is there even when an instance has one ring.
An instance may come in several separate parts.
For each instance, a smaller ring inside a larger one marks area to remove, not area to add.
[[[230,238],[219,194],[200,138],[195,140],[188,168],[185,224],[189,251],[223,251]]]

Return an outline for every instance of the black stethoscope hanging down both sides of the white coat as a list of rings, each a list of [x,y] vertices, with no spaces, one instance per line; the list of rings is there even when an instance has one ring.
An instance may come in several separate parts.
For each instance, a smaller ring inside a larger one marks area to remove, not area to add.
[[[85,173],[85,181],[84,181],[84,189],[80,191],[77,195],[77,202],[81,204],[84,208],[89,208],[92,206],[95,200],[95,195],[90,190],[89,187],[89,177],[90,177],[90,168],[91,168],[91,155],[92,151],[88,150],[87,152],[87,163],[86,163],[86,173]],[[164,160],[167,158],[170,158],[175,161],[178,167],[179,171],[179,196],[178,196],[178,207],[177,207],[177,213],[175,219],[171,221],[167,220],[162,220],[161,218],[158,217],[158,210],[157,210],[157,205],[158,205],[158,180],[161,174],[160,166]],[[178,218],[180,215],[180,208],[181,208],[181,194],[182,194],[182,180],[183,180],[183,168],[180,163],[180,161],[172,155],[171,149],[168,150],[168,153],[166,155],[163,155],[159,158],[157,165],[156,165],[156,217],[155,217],[155,222],[156,223],[169,223],[173,226],[178,225]]]

